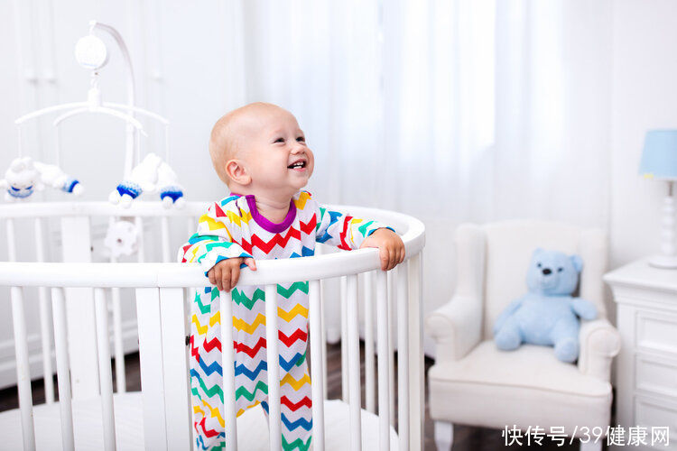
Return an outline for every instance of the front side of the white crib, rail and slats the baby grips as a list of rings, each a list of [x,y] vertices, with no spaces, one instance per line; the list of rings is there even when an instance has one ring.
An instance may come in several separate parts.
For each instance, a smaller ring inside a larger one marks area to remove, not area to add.
[[[80,205],[80,204],[77,204]],[[100,206],[97,206],[99,208]],[[82,215],[73,207],[73,216]],[[97,212],[88,210],[88,214]],[[101,207],[104,214],[107,207]],[[394,326],[398,347],[398,448],[422,449],[423,373],[422,373],[422,223],[411,216],[383,210],[350,208],[355,214],[369,215],[395,226],[402,233],[406,260],[390,273],[380,271],[376,249],[362,249],[350,253],[334,253],[283,261],[257,262],[257,271],[243,270],[240,285],[265,287],[266,337],[268,362],[277,362],[277,300],[276,284],[301,280],[309,281],[309,321],[311,335],[311,380],[313,446],[324,449],[324,412],[326,373],[321,364],[323,350],[322,300],[320,281],[344,277],[341,302],[345,304],[345,364],[343,387],[349,403],[350,449],[361,449],[362,400],[359,366],[358,333],[358,274],[365,274],[366,312],[376,317],[377,400],[379,416],[379,449],[390,449],[390,427],[394,424]],[[19,210],[17,210],[19,211]],[[158,210],[161,212],[160,210]],[[165,210],[166,211],[166,210]],[[109,214],[107,212],[106,214]],[[144,214],[149,214],[144,211]],[[56,212],[55,212],[56,215]],[[64,216],[60,211],[59,216]],[[188,449],[190,438],[190,383],[185,345],[187,315],[184,288],[205,284],[204,273],[197,265],[179,263],[91,263],[91,262],[0,262],[0,286],[11,287],[14,318],[14,341],[17,356],[18,390],[22,412],[23,447],[35,449],[35,431],[32,419],[31,379],[26,345],[23,288],[51,288],[54,322],[54,341],[57,354],[58,389],[61,412],[63,449],[74,449],[73,417],[70,400],[69,347],[66,327],[65,290],[93,290],[94,318],[96,318],[98,387],[105,449],[116,449],[116,425],[113,403],[110,352],[108,348],[108,318],[106,289],[133,288],[135,291],[141,382],[144,405],[144,439],[146,449]],[[389,286],[390,281],[390,286]],[[376,298],[371,290],[376,289]],[[232,343],[233,317],[229,293],[219,299],[222,321],[221,343]],[[373,309],[376,309],[374,312]],[[392,324],[391,318],[396,317]],[[72,325],[71,325],[72,327]],[[375,410],[375,369],[373,357],[375,336],[371,322],[366,323],[366,410]],[[371,343],[369,343],[371,342]],[[227,449],[236,449],[235,374],[232,346],[224,345],[222,369]],[[371,359],[371,364],[369,364]],[[370,369],[371,366],[371,369]],[[271,449],[281,449],[280,377],[278,365],[269,365],[269,418]],[[371,386],[371,388],[369,388]]]

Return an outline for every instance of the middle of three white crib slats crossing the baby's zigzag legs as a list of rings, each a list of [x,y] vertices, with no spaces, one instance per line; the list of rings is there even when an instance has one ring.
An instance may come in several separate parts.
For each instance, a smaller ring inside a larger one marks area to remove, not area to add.
[[[268,357],[268,420],[270,423],[270,448],[282,448],[280,417],[280,353],[277,329],[277,285],[265,286],[265,346]]]

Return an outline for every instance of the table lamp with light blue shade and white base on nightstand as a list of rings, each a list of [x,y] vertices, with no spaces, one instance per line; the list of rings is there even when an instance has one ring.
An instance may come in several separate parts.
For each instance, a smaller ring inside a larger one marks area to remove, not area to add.
[[[677,130],[649,130],[645,136],[645,148],[639,164],[640,175],[668,183],[668,193],[663,200],[661,229],[661,254],[649,259],[657,268],[677,268],[675,250],[674,182],[677,180]]]

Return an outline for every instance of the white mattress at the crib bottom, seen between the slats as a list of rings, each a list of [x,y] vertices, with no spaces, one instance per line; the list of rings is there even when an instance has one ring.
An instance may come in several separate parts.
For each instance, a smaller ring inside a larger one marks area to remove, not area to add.
[[[132,391],[114,395],[117,449],[143,450],[144,427],[141,392]],[[73,428],[75,448],[78,451],[103,449],[101,403],[98,399],[73,400]],[[348,447],[349,410],[342,400],[325,400],[325,449],[345,450]],[[59,403],[33,407],[37,451],[61,449]],[[237,419],[238,449],[267,451],[269,449],[263,409],[246,410]],[[22,449],[21,414],[18,409],[0,412],[0,449]],[[397,449],[397,434],[390,428],[391,450]],[[378,448],[378,417],[362,410],[362,449]]]

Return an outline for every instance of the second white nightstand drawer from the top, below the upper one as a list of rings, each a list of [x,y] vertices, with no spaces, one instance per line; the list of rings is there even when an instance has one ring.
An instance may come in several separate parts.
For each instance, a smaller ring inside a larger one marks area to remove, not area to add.
[[[635,388],[677,400],[677,359],[636,354]]]

